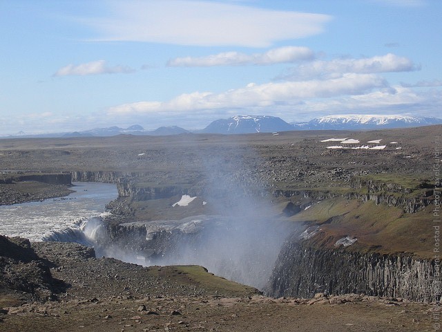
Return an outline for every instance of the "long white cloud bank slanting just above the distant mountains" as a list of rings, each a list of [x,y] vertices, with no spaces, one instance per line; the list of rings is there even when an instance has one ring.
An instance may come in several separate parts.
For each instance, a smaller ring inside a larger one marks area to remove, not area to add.
[[[108,114],[184,113],[228,108],[263,108],[278,104],[298,103],[300,100],[309,98],[357,95],[383,86],[386,86],[385,80],[377,75],[348,73],[330,80],[251,83],[241,89],[224,93],[194,92],[179,95],[168,102],[148,101],[122,104],[108,109]]]

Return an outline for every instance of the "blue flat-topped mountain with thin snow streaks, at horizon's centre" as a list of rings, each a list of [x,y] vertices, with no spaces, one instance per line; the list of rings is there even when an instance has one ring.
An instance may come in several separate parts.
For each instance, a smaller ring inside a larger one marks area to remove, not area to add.
[[[200,132],[272,133],[289,130],[295,130],[294,126],[275,116],[232,116],[228,119],[215,120]]]

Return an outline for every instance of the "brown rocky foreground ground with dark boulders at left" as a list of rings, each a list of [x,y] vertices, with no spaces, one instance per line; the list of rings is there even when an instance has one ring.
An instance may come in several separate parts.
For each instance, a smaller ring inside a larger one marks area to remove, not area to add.
[[[74,243],[0,237],[0,256],[1,331],[434,331],[439,309],[356,294],[274,299],[198,266],[146,268]]]

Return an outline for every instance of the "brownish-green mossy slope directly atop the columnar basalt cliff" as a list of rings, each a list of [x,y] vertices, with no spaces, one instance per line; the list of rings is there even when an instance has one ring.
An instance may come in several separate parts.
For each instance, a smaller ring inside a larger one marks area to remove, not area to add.
[[[356,237],[347,250],[361,252],[407,253],[434,258],[432,210],[428,205],[419,212],[405,213],[401,208],[374,201],[327,199],[316,203],[291,218],[320,226],[321,232],[311,238],[313,246],[334,248],[340,238]]]

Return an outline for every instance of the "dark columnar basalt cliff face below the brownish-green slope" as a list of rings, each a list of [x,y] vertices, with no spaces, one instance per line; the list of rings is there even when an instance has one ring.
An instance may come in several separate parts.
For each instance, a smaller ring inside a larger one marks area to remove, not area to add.
[[[315,293],[365,293],[434,301],[434,261],[405,255],[321,250],[287,241],[265,292],[276,297],[312,297]],[[440,266],[438,273],[440,273]],[[437,276],[437,274],[436,274]]]

